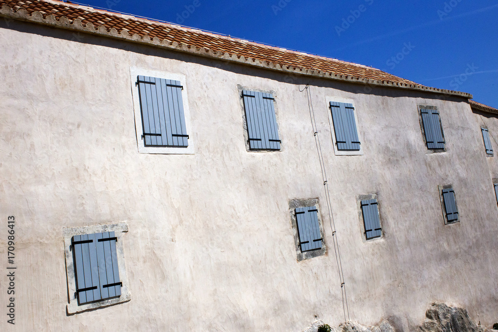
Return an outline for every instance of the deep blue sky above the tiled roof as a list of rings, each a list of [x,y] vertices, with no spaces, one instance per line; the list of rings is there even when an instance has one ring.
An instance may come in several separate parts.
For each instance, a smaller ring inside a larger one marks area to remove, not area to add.
[[[498,108],[497,0],[80,1],[372,66]]]

